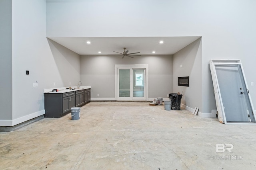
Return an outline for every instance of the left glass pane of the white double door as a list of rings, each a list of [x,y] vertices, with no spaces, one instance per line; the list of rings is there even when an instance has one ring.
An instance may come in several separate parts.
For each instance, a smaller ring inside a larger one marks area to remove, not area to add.
[[[118,69],[119,97],[130,97],[130,69]]]

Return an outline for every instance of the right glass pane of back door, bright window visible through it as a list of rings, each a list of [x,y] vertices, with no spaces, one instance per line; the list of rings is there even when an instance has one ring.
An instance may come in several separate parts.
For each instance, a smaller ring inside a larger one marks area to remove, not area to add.
[[[146,100],[144,68],[133,69],[133,99]]]

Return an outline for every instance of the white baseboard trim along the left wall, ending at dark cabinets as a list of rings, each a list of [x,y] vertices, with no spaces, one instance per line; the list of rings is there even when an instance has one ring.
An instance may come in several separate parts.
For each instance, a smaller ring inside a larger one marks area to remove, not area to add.
[[[13,119],[13,120],[0,120],[0,126],[15,126],[15,125],[18,125],[25,121],[28,121],[30,119],[33,119],[35,117],[44,115],[44,114],[45,114],[45,110],[41,110],[41,111],[37,111],[35,113],[31,113],[29,115],[19,117],[17,119]]]

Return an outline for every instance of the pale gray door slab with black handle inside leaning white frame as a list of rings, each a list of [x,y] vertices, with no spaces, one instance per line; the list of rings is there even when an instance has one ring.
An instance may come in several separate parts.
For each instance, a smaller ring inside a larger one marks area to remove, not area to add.
[[[227,123],[255,122],[240,64],[215,65]]]

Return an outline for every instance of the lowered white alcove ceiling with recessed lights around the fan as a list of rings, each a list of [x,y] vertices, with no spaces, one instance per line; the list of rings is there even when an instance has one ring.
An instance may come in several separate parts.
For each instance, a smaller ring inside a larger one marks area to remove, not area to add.
[[[124,47],[129,53],[139,55],[172,55],[200,36],[193,37],[48,37],[79,55],[116,55],[123,53]],[[86,42],[90,41],[91,44]],[[160,44],[160,41],[164,43]]]

